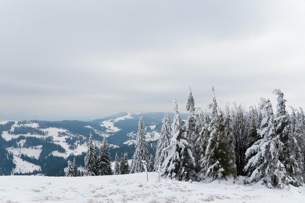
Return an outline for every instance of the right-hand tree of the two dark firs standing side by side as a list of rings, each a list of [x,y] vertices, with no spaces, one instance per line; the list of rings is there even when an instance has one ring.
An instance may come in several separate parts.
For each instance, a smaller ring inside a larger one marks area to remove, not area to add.
[[[99,150],[99,156],[96,160],[97,174],[99,176],[112,175],[110,153],[108,152],[107,138],[104,137],[101,148]]]

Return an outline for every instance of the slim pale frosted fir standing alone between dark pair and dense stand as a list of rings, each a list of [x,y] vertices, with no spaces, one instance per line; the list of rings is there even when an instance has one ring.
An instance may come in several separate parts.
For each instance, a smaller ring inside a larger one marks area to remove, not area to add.
[[[144,126],[143,118],[139,118],[138,132],[136,134],[135,152],[131,164],[130,173],[143,172],[144,168],[142,160],[148,162],[147,142],[145,140],[146,129]]]

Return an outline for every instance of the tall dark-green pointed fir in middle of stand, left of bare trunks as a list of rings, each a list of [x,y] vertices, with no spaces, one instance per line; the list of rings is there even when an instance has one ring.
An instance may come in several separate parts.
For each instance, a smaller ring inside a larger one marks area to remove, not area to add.
[[[227,176],[235,175],[236,171],[231,142],[228,142],[230,137],[225,131],[223,114],[218,111],[214,87],[212,92],[214,97],[213,103],[210,105],[212,112],[208,127],[210,137],[205,155],[201,160],[203,174],[200,176],[200,179],[226,178]]]

